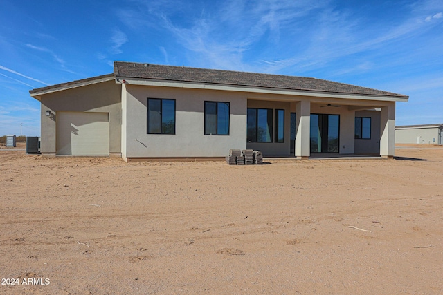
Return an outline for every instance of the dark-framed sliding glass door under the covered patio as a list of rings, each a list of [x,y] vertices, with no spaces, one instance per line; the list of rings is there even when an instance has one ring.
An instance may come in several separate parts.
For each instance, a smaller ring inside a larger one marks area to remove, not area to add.
[[[338,153],[340,115],[311,114],[311,153]]]

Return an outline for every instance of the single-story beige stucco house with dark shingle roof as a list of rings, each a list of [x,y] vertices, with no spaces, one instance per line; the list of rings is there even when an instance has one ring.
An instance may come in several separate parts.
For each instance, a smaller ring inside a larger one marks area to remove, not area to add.
[[[30,91],[42,155],[224,158],[395,151],[408,96],[323,79],[116,61],[114,73]]]

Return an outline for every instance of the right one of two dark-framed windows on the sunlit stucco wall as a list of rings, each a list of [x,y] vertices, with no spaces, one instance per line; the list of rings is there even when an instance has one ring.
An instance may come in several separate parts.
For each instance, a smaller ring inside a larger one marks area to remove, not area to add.
[[[205,135],[229,135],[229,102],[205,102]]]

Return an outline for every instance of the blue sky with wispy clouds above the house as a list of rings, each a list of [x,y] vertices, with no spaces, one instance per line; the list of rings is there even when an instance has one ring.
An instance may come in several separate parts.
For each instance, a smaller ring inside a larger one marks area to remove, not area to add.
[[[113,61],[316,77],[406,94],[397,125],[443,123],[443,1],[3,0],[0,135],[39,135],[28,91]]]

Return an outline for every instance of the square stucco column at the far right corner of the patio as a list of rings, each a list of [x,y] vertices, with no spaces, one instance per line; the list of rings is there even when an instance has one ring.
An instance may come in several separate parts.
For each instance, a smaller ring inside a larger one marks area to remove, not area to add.
[[[395,153],[395,102],[381,107],[380,116],[380,155],[392,158]]]

